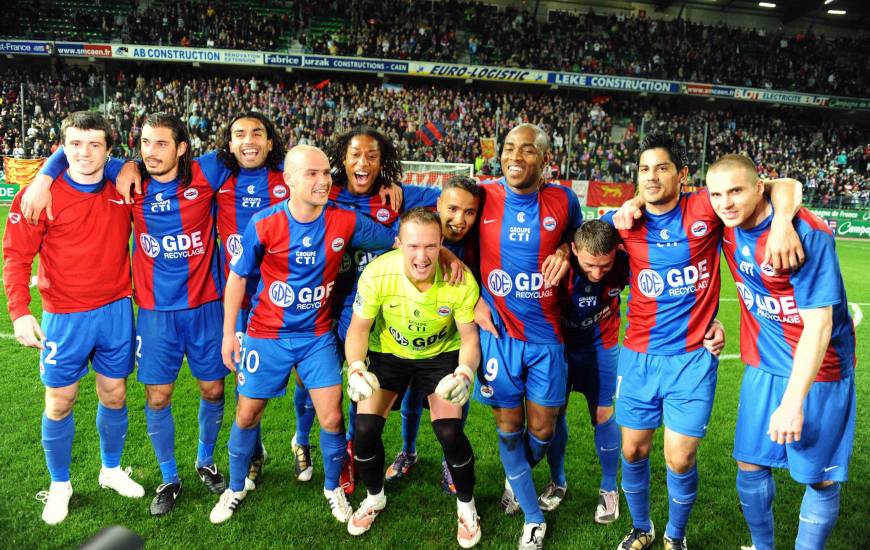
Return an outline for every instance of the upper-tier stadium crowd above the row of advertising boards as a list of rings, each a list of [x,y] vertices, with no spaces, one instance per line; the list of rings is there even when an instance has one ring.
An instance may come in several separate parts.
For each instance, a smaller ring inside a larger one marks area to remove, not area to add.
[[[826,38],[812,32],[787,33],[668,21],[632,15],[550,14],[539,21],[513,7],[445,0],[333,0],[316,15],[333,14],[339,29],[310,25],[305,3],[271,2],[263,11],[229,0],[161,3],[147,10],[132,2],[129,14],[71,14],[75,31],[40,31],[39,13],[58,11],[52,2],[24,2],[12,8],[0,33],[48,39],[104,41],[218,48],[277,50],[282,32],[295,35],[307,51],[398,59],[470,62],[573,72],[665,78],[831,93],[866,95],[870,51],[866,35]],[[261,6],[262,7],[262,6]],[[65,17],[70,14],[61,13]],[[24,29],[24,30],[20,30]],[[505,32],[523,36],[504,40]],[[661,37],[667,36],[667,41]],[[538,44],[528,48],[526,44]]]

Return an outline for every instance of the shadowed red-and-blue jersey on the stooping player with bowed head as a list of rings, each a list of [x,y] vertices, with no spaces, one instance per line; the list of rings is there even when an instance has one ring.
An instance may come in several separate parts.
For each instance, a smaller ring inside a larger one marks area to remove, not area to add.
[[[597,283],[571,262],[568,292],[563,304],[565,341],[571,347],[619,344],[619,293],[628,285],[628,254],[616,251],[613,268]]]

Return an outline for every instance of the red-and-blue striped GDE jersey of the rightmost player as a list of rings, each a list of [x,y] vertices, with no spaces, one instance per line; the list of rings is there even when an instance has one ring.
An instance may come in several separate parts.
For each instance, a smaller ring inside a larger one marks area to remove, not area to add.
[[[831,306],[831,341],[816,381],[846,378],[855,368],[855,328],[834,235],[825,222],[801,208],[794,227],[806,262],[793,273],[779,273],[763,263],[771,218],[768,216],[749,231],[725,229],[725,259],[742,303],[740,356],[747,365],[774,376],[791,376],[795,349],[804,329],[799,310]]]

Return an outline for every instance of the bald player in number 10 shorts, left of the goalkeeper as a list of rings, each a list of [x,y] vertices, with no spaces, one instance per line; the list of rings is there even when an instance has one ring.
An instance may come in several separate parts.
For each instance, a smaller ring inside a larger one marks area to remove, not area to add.
[[[257,426],[268,400],[286,393],[294,368],[320,422],[323,494],[339,522],[347,523],[352,512],[338,483],[345,436],[332,293],[347,246],[389,248],[395,233],[354,211],[326,206],[332,187],[329,160],[316,147],[300,145],[287,153],[284,180],[290,198],[254,215],[230,263],[221,353],[236,372],[239,402],[228,442],[230,484],[211,511],[212,523],[230,519],[247,496]],[[258,269],[260,282],[240,349],[236,317],[246,278]]]

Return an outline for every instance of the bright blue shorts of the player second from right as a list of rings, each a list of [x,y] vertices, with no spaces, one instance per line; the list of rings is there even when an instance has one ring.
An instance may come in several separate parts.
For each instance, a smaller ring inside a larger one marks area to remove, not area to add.
[[[704,437],[713,410],[719,359],[704,348],[649,355],[623,346],[616,378],[616,423],[634,430],[662,425]]]

